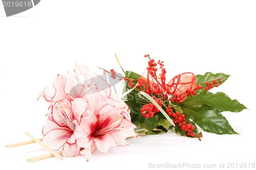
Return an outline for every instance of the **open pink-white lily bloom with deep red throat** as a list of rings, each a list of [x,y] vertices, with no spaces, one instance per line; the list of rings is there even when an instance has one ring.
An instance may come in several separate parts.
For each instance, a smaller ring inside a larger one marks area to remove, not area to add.
[[[88,109],[93,114],[90,118],[83,118],[77,128],[80,133],[87,136],[77,138],[79,147],[93,153],[97,149],[103,153],[108,152],[109,148],[116,149],[117,146],[126,146],[127,137],[137,137],[134,132],[136,126],[131,122],[129,109],[121,100],[114,100],[108,97],[106,92],[86,95],[89,101]],[[89,160],[91,154],[86,155]]]

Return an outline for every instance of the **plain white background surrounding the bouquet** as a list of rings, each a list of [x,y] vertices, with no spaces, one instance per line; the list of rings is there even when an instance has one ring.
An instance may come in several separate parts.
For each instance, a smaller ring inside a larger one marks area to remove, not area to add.
[[[152,169],[149,163],[189,163],[219,169],[220,163],[256,163],[255,9],[255,1],[44,0],[6,17],[1,4],[0,168]],[[94,153],[88,162],[75,157],[29,163],[27,158],[47,152],[37,144],[5,148],[30,140],[25,132],[42,137],[48,104],[36,97],[57,74],[75,63],[97,74],[97,66],[120,72],[115,53],[125,70],[139,74],[147,64],[144,54],[150,54],[165,62],[169,79],[181,72],[231,75],[215,91],[248,108],[223,113],[240,135],[203,132],[201,142],[173,132],[139,136],[127,139],[127,147]]]

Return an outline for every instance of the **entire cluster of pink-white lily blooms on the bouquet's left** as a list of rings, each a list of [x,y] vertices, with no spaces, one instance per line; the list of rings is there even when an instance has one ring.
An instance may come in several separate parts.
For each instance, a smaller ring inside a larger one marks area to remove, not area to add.
[[[57,75],[52,88],[38,95],[50,103],[48,120],[42,133],[44,142],[62,155],[86,155],[96,149],[125,146],[127,137],[136,136],[129,107],[111,94],[106,81],[76,66],[67,76]],[[79,144],[78,144],[79,143]]]

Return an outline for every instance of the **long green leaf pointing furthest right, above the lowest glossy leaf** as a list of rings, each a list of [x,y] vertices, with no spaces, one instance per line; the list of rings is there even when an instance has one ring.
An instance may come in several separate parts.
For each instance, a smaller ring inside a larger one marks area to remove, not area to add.
[[[180,106],[191,108],[199,105],[208,105],[222,111],[240,112],[247,109],[237,100],[231,100],[225,93],[217,92],[216,94],[209,91],[201,92],[197,95],[190,95]]]

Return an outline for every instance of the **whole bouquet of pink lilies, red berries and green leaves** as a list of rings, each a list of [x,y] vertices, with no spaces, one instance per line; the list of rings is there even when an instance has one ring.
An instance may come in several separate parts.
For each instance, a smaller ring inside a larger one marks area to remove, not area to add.
[[[238,134],[221,113],[240,112],[246,107],[223,92],[210,92],[229,75],[184,72],[166,80],[164,62],[150,55],[144,57],[148,61],[142,74],[125,71],[116,57],[124,76],[113,68],[101,67],[103,75],[99,76],[78,65],[66,75],[57,75],[53,87],[38,95],[49,103],[42,128],[44,138],[26,133],[32,141],[7,147],[37,142],[51,153],[29,161],[77,155],[90,160],[96,150],[106,153],[110,148],[126,146],[126,138],[138,135],[173,130],[201,141],[202,131]],[[123,85],[121,93],[116,91],[117,83]]]

